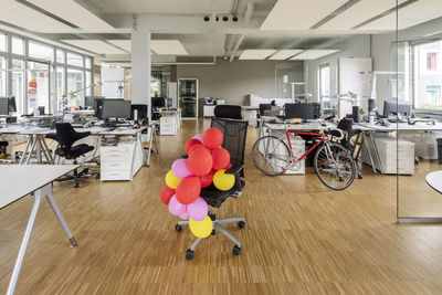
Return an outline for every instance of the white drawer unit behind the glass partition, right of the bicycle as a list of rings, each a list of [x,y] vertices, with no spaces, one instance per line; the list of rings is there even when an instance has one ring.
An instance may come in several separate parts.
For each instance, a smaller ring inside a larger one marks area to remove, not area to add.
[[[414,144],[391,137],[375,137],[378,149],[381,172],[385,175],[413,175],[414,173]],[[399,160],[398,160],[399,159]],[[368,156],[362,160],[370,164]]]

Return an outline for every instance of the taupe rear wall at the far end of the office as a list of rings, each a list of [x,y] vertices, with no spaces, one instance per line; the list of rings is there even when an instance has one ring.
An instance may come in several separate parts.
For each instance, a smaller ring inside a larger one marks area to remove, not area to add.
[[[241,105],[244,96],[275,97],[274,61],[217,60],[214,65],[178,65],[178,78],[199,80],[200,97],[225,99]]]

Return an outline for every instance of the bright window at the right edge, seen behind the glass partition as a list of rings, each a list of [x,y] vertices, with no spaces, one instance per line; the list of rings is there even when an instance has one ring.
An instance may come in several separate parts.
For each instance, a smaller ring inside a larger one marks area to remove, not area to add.
[[[420,109],[442,110],[442,41],[413,45],[412,69],[413,105]]]

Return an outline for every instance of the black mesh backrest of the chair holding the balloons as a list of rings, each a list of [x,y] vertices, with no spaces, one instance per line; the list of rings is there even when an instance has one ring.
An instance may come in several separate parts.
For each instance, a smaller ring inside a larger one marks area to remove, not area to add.
[[[244,152],[245,152],[245,140],[248,137],[249,122],[224,119],[224,118],[212,118],[212,127],[220,129],[224,136],[222,147],[225,148],[230,154],[230,161],[232,164],[244,165]],[[243,171],[241,176],[244,177]]]

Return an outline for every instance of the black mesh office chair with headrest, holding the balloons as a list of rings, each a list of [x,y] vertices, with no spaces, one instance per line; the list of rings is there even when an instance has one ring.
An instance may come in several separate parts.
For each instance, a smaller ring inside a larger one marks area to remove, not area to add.
[[[202,189],[200,196],[209,206],[208,214],[213,222],[212,235],[215,234],[215,231],[224,234],[234,243],[233,254],[239,255],[241,253],[241,242],[227,231],[222,224],[238,223],[238,226],[243,229],[245,226],[245,218],[217,219],[215,208],[220,208],[229,197],[241,197],[242,189],[245,186],[245,182],[241,178],[244,177],[244,148],[249,123],[242,120],[241,106],[236,105],[218,105],[214,108],[214,116],[211,127],[217,127],[222,131],[224,136],[222,147],[230,152],[230,160],[233,165],[225,173],[234,175],[235,183],[232,189],[227,191],[218,190],[212,183],[210,187]],[[179,221],[175,225],[175,230],[178,232],[181,231],[181,225],[183,224],[189,224],[189,221]],[[193,250],[199,242],[201,242],[201,239],[197,239],[190,249],[186,251],[187,260],[193,257]]]

